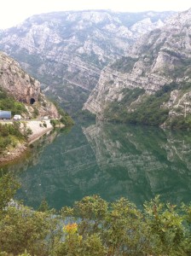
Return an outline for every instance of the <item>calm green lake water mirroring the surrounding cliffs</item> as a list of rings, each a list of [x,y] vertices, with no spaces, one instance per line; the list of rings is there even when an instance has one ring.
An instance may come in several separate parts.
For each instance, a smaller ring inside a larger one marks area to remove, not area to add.
[[[137,125],[74,125],[31,145],[16,198],[37,208],[72,206],[85,195],[107,201],[121,196],[142,207],[155,195],[191,201],[191,132]]]

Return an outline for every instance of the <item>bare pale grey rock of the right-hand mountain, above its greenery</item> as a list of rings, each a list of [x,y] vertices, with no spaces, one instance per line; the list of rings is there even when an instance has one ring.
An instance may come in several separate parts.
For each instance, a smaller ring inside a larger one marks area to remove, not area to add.
[[[138,40],[128,56],[104,68],[84,108],[101,117],[111,102],[120,104],[123,101],[125,90],[143,89],[146,94],[137,97],[136,104],[130,102],[126,106],[126,111],[133,112],[137,103],[142,102],[146,95],[153,94],[172,82],[177,85],[191,82],[191,9],[173,15],[165,26]],[[172,109],[177,106],[183,111],[188,102],[190,112],[189,101],[183,100],[189,97],[191,88],[189,89],[189,85],[187,87],[186,91],[182,88],[178,88],[177,93],[172,91],[169,102],[163,107],[173,113]]]

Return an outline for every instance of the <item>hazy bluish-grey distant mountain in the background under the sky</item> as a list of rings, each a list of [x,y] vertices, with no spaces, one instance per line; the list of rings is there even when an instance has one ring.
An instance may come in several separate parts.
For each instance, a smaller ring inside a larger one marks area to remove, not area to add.
[[[105,10],[34,15],[0,32],[0,49],[43,84],[65,108],[82,108],[103,67],[145,32],[164,25],[171,12]]]

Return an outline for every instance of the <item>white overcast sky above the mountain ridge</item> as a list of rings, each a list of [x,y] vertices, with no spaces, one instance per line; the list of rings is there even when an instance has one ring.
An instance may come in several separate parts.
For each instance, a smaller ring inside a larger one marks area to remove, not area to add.
[[[190,0],[3,0],[0,7],[0,28],[15,26],[29,16],[61,10],[112,9],[140,12],[191,8]]]

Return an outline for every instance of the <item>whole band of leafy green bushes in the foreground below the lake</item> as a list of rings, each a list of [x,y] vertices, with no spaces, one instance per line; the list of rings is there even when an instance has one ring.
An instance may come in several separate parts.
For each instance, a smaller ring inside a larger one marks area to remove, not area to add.
[[[86,196],[60,212],[45,201],[38,211],[11,206],[18,183],[0,173],[0,255],[190,255],[191,205],[177,208],[159,196],[142,210],[125,198],[108,203]],[[54,218],[53,218],[54,216]]]

